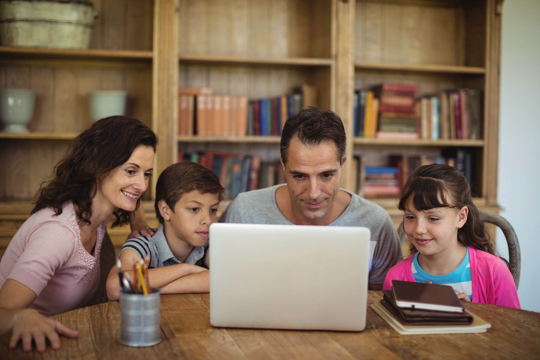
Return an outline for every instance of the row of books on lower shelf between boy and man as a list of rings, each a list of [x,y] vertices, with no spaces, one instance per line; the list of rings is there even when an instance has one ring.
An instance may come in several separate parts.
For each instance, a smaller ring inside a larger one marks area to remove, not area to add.
[[[261,161],[257,155],[232,153],[178,152],[178,161],[192,161],[210,169],[225,188],[224,199],[238,194],[285,183],[280,161]]]

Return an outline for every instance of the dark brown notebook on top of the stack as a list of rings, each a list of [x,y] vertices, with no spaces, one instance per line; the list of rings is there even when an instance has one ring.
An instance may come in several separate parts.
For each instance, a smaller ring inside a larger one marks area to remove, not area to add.
[[[463,305],[448,285],[392,280],[392,294],[400,308],[463,313]]]

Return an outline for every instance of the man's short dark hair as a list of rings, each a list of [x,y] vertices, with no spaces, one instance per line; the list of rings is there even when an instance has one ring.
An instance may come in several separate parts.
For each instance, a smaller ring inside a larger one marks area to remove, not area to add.
[[[343,164],[347,151],[347,137],[341,118],[333,111],[308,107],[286,121],[281,131],[279,146],[283,164],[287,162],[289,145],[295,136],[298,136],[304,145],[320,145],[323,141],[333,141],[338,149],[338,161]]]

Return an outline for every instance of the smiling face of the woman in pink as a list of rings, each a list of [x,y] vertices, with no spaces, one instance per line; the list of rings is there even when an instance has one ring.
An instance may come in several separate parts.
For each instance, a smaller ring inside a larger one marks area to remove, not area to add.
[[[152,175],[154,150],[150,146],[140,145],[131,157],[122,165],[112,169],[109,175],[98,184],[98,193],[92,206],[135,210],[137,200],[148,188]]]

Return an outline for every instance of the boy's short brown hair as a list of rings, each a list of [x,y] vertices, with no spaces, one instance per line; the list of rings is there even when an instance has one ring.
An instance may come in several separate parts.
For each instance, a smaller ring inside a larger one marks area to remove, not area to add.
[[[218,194],[219,201],[223,200],[225,189],[219,183],[218,176],[206,167],[190,161],[183,161],[167,167],[159,175],[156,184],[156,216],[163,223],[159,212],[159,201],[165,200],[167,206],[174,212],[174,206],[185,193],[197,190],[201,194]]]

